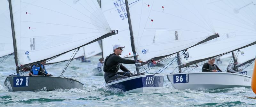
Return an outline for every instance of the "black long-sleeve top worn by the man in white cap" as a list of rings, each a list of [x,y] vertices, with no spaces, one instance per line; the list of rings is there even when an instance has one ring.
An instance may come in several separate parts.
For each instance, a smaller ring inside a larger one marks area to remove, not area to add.
[[[106,66],[110,67],[113,65],[116,65],[116,63],[123,63],[123,64],[135,64],[134,60],[130,59],[124,59],[122,57],[117,56],[115,53],[114,55],[108,57],[108,60],[106,62]],[[124,72],[130,72],[126,67],[124,67],[122,64],[120,65],[120,69]]]

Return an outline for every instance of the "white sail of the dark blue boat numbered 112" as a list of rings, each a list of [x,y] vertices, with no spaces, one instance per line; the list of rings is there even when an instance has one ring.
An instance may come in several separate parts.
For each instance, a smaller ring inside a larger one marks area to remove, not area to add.
[[[147,61],[184,50],[213,35],[212,23],[199,1],[129,0],[138,59]],[[178,32],[178,40],[175,38]]]

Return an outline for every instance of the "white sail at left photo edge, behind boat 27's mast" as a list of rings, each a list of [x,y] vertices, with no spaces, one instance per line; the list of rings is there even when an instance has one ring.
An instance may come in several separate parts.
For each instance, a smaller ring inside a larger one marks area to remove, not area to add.
[[[0,57],[3,57],[13,53],[12,28],[7,0],[0,1],[0,23]]]

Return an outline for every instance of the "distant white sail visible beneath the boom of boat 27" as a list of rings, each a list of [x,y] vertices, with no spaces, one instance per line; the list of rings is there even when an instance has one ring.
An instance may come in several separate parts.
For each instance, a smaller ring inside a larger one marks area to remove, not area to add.
[[[46,63],[56,63],[56,62],[70,60],[71,56],[76,53],[74,51],[77,51],[77,50],[73,50],[68,53],[65,53],[59,57],[56,57],[50,61],[47,61]],[[99,43],[93,42],[91,44],[81,47],[78,50],[78,52],[76,53],[76,56],[74,57],[74,59],[78,58],[78,57],[84,57],[84,53],[85,53],[85,58],[88,58],[88,57],[92,57],[96,54],[99,54],[100,52],[101,52],[101,49],[100,49]]]

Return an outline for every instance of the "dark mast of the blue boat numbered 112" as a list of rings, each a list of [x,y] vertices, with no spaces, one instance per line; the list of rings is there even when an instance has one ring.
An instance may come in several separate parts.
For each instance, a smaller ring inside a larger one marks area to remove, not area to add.
[[[131,35],[132,52],[133,52],[133,57],[134,57],[134,60],[135,60],[136,72],[137,72],[137,74],[140,74],[139,65],[136,64],[136,63],[138,63],[138,59],[137,59],[137,54],[136,54],[134,40],[133,40],[132,23],[131,23],[131,17],[130,17],[130,12],[129,12],[129,7],[128,7],[128,1],[127,0],[125,0],[125,7],[126,7],[126,12],[127,12],[127,17],[128,17],[128,24],[129,24],[129,30],[130,30],[130,35]]]

